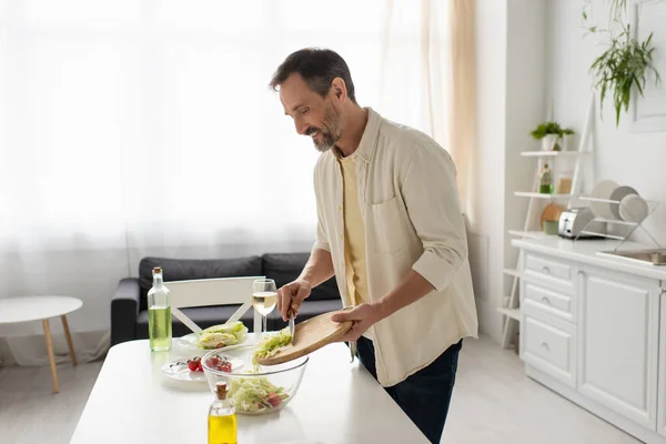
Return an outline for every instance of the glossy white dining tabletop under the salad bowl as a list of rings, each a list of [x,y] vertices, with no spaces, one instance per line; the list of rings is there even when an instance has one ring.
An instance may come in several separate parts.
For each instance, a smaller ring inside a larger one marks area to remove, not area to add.
[[[208,442],[206,383],[162,375],[176,351],[151,353],[148,340],[113,346],[72,435],[72,444]],[[427,443],[346,345],[310,355],[295,397],[280,412],[239,415],[239,443]]]

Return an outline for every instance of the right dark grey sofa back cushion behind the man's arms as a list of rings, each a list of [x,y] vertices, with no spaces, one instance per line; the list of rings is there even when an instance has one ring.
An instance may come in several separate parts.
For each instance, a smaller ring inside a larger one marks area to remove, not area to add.
[[[282,285],[299,278],[305,263],[307,263],[307,259],[310,259],[310,253],[270,253],[264,254],[261,259],[263,273],[266,278],[275,280],[275,285],[280,289]],[[307,301],[339,299],[340,292],[337,291],[335,278],[331,278],[321,285],[312,289]]]

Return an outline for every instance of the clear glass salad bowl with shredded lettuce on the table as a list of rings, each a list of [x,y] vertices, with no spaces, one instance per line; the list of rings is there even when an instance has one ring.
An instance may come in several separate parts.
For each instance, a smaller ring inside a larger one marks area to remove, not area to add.
[[[238,414],[263,415],[278,412],[296,395],[309,357],[299,357],[284,364],[262,365],[254,373],[253,353],[254,347],[242,347],[212,350],[204,354],[201,364],[209,389],[215,393],[215,384],[219,381],[226,382],[226,397]],[[216,370],[212,366],[213,357],[231,361],[234,366],[231,372]]]

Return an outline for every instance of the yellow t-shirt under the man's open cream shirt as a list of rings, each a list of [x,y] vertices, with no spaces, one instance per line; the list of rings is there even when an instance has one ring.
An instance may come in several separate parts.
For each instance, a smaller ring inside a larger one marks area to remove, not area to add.
[[[354,155],[340,158],[343,179],[344,261],[347,294],[354,305],[369,303],[365,268],[365,224],[359,205],[356,164]],[[370,332],[364,336],[372,339]]]

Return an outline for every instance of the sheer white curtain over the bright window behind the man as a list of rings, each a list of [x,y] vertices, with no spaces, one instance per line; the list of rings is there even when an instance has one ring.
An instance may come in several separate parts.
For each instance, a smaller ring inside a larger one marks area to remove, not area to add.
[[[444,144],[442,3],[0,0],[0,297],[80,297],[70,326],[94,357],[145,255],[309,251],[317,153],[271,74],[334,49],[362,105]],[[0,357],[44,363],[40,329],[4,326]]]

